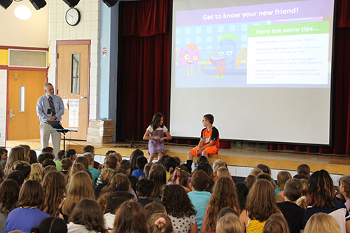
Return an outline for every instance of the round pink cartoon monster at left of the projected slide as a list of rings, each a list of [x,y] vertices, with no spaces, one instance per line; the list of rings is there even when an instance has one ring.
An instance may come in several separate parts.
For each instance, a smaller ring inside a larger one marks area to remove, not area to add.
[[[197,48],[197,45],[186,45],[186,47],[181,47],[180,51],[178,49],[179,56],[179,65],[186,66],[187,76],[190,76],[188,73],[188,66],[191,67],[191,76],[193,76],[193,66],[198,66],[198,71],[200,72],[200,65],[198,60],[200,59],[200,49]]]

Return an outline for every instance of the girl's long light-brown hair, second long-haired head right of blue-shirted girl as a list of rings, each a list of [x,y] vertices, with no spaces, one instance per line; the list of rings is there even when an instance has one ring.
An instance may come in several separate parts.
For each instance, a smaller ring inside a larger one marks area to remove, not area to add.
[[[85,171],[78,171],[69,181],[66,200],[59,210],[66,222],[76,204],[84,198],[94,199],[94,188],[90,176]]]

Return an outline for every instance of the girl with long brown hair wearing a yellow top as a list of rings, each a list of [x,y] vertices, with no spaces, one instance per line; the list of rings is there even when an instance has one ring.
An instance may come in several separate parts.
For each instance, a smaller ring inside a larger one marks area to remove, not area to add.
[[[246,233],[262,232],[269,216],[280,213],[274,197],[272,184],[266,180],[258,180],[246,197],[246,209],[239,218],[245,225]]]

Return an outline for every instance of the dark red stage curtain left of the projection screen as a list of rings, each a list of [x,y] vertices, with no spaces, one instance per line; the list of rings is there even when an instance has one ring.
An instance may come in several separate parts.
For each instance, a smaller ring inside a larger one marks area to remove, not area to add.
[[[116,134],[120,141],[142,140],[154,113],[168,118],[170,4],[120,2]]]

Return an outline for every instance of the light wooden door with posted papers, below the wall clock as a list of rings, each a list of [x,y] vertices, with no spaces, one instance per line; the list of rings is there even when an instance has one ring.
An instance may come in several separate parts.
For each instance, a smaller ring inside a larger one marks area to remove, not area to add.
[[[67,102],[62,125],[78,129],[69,139],[86,140],[89,84],[89,45],[58,45],[57,94]]]

